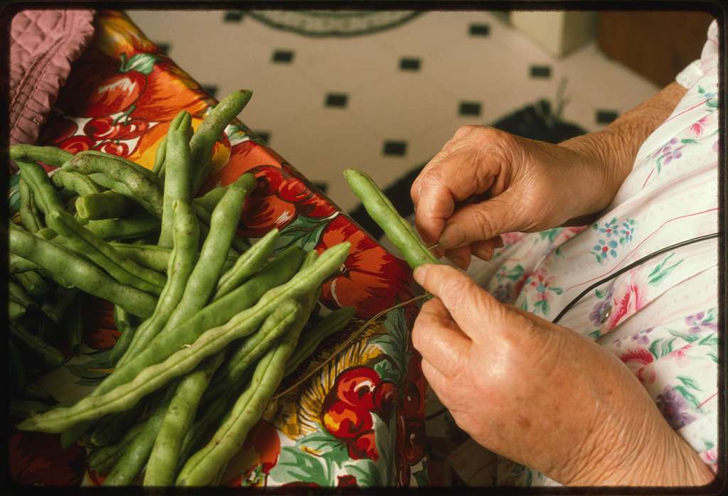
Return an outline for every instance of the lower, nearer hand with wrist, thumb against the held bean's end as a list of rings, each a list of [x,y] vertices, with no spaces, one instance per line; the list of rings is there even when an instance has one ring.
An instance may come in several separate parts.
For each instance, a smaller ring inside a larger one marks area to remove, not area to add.
[[[454,268],[422,265],[414,276],[435,295],[412,332],[424,375],[483,447],[567,485],[713,480],[616,356],[499,303]]]

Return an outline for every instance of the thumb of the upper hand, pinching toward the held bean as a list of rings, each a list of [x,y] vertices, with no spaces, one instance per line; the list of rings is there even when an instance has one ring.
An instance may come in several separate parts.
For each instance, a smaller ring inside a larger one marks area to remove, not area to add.
[[[515,195],[504,191],[498,196],[467,205],[450,216],[438,240],[443,249],[464,247],[494,236],[518,230]]]

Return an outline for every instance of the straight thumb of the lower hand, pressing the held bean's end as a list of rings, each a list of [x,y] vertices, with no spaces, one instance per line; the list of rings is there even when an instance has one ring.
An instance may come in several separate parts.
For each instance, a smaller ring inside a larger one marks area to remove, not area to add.
[[[414,279],[442,300],[458,327],[471,340],[477,342],[488,334],[507,331],[507,308],[467,274],[447,265],[425,264],[416,268]],[[483,332],[484,329],[488,332]]]

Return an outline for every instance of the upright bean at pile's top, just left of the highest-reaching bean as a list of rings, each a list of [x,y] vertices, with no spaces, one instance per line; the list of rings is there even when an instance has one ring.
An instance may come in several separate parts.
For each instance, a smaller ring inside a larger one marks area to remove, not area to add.
[[[187,129],[191,127],[191,116],[185,111],[178,114],[177,126],[167,132],[167,154],[165,158],[165,188],[162,203],[162,231],[159,233],[159,246],[172,246],[174,229],[174,212],[172,204],[175,200],[189,203],[191,195],[191,158]],[[176,119],[176,118],[175,118]]]

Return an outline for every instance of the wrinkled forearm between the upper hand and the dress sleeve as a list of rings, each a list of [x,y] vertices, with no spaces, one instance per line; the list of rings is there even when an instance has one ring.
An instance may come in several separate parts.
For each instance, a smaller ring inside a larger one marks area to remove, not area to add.
[[[606,129],[560,143],[563,148],[576,152],[585,167],[598,170],[603,183],[600,188],[594,188],[598,198],[591,207],[590,215],[571,219],[567,225],[587,223],[609,206],[632,170],[642,143],[668,118],[686,91],[677,83],[668,84]]]

